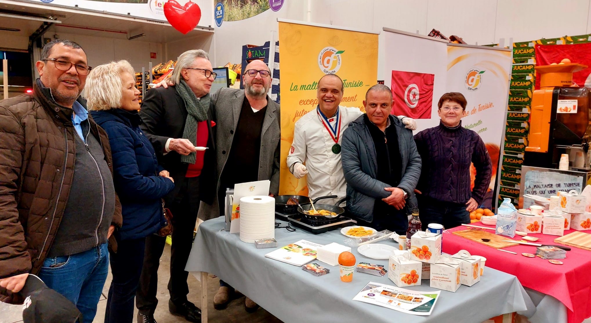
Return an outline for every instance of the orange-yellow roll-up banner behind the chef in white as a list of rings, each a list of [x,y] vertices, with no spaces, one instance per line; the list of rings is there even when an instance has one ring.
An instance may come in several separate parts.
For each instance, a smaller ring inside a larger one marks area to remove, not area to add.
[[[376,84],[378,35],[359,31],[279,22],[281,61],[281,179],[280,195],[307,195],[306,176],[298,180],[285,161],[294,123],[318,106],[318,81],[337,74],[345,90],[340,103],[363,109],[369,87]]]

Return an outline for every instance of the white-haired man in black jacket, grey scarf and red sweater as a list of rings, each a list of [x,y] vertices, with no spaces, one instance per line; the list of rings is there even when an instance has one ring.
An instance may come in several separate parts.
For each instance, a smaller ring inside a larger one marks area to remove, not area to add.
[[[154,146],[158,162],[174,179],[173,192],[164,198],[173,213],[168,310],[189,322],[200,322],[201,311],[187,300],[189,273],[184,269],[193,245],[199,202],[211,204],[215,199],[215,123],[209,96],[215,77],[206,52],[186,51],[178,57],[173,71],[176,85],[148,91],[139,112],[141,128]],[[158,265],[164,244],[164,237],[146,238],[136,296],[138,322],[155,322]]]

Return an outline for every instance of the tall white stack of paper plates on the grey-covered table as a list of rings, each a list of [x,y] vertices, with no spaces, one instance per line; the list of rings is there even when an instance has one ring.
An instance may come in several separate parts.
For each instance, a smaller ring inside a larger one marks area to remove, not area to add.
[[[245,196],[240,199],[240,239],[275,238],[275,199],[271,196]]]

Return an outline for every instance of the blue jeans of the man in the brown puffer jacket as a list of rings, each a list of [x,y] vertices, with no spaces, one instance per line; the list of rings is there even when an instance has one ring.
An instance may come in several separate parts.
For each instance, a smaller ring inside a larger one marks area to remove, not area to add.
[[[107,244],[103,243],[74,255],[46,258],[39,278],[76,305],[84,322],[92,322],[108,271]]]

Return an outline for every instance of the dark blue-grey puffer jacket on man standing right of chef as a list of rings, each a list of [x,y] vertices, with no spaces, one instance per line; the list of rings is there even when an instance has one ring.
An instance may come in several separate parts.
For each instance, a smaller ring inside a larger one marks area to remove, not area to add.
[[[389,116],[390,127],[396,128],[398,147],[402,157],[401,180],[398,187],[408,193],[406,209],[417,206],[414,188],[421,176],[421,156],[414,143],[413,131],[404,128],[398,118]],[[384,190],[388,184],[376,179],[378,161],[376,159],[374,140],[363,121],[363,116],[349,124],[343,133],[341,162],[347,181],[348,210],[358,219],[372,222],[374,219],[374,203],[376,199],[384,199],[391,192]]]

